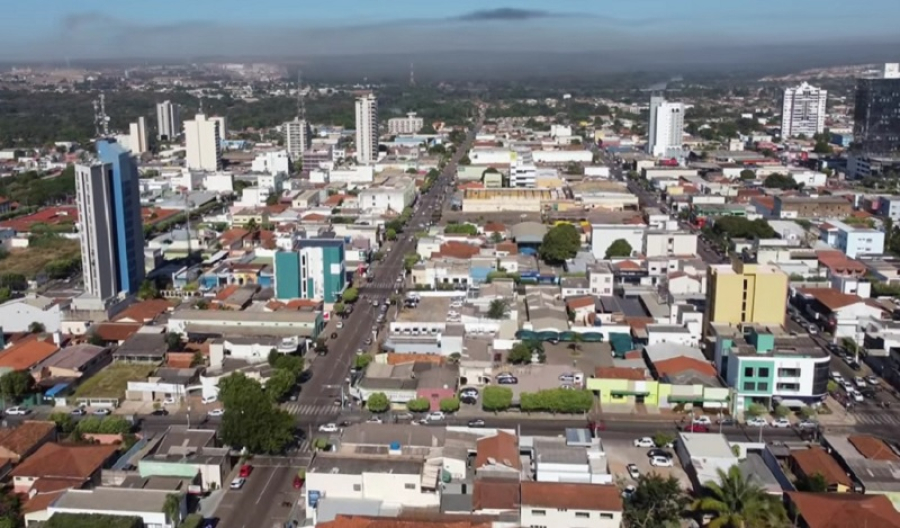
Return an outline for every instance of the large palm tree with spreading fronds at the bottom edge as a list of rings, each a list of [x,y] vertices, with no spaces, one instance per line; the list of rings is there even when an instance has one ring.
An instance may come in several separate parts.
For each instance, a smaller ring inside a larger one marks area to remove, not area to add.
[[[710,514],[709,528],[755,528],[787,526],[784,506],[765,492],[756,482],[731,466],[728,471],[717,469],[718,482],[703,485],[704,494],[695,500],[690,510]]]

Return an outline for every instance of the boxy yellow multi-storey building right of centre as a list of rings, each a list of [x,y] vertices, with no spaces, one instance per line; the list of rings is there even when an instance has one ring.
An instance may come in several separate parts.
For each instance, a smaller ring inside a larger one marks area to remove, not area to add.
[[[788,276],[774,266],[731,264],[707,272],[706,325],[712,323],[784,324]]]

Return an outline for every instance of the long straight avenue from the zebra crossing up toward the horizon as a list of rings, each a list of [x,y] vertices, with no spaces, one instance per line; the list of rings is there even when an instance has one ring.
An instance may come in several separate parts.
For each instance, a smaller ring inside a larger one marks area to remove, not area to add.
[[[372,335],[379,308],[372,301],[383,303],[394,292],[398,277],[403,269],[403,256],[415,250],[415,231],[420,224],[428,224],[435,208],[441,208],[449,197],[448,187],[451,185],[459,160],[469,151],[475,140],[475,134],[484,119],[482,112],[478,122],[469,131],[466,141],[461,145],[440,176],[425,193],[421,194],[413,207],[413,214],[407,228],[397,241],[388,247],[390,251],[373,270],[372,282],[360,289],[360,300],[353,306],[352,313],[343,320],[343,328],[338,330],[338,337],[331,341],[329,353],[315,359],[310,367],[312,377],[303,384],[298,398],[299,408],[313,408],[318,412],[315,417],[298,415],[301,423],[325,423],[333,421],[341,414],[341,406],[335,405],[335,398],[340,398],[350,368],[356,357],[356,351],[364,346],[367,337]],[[326,412],[326,408],[334,412]]]

